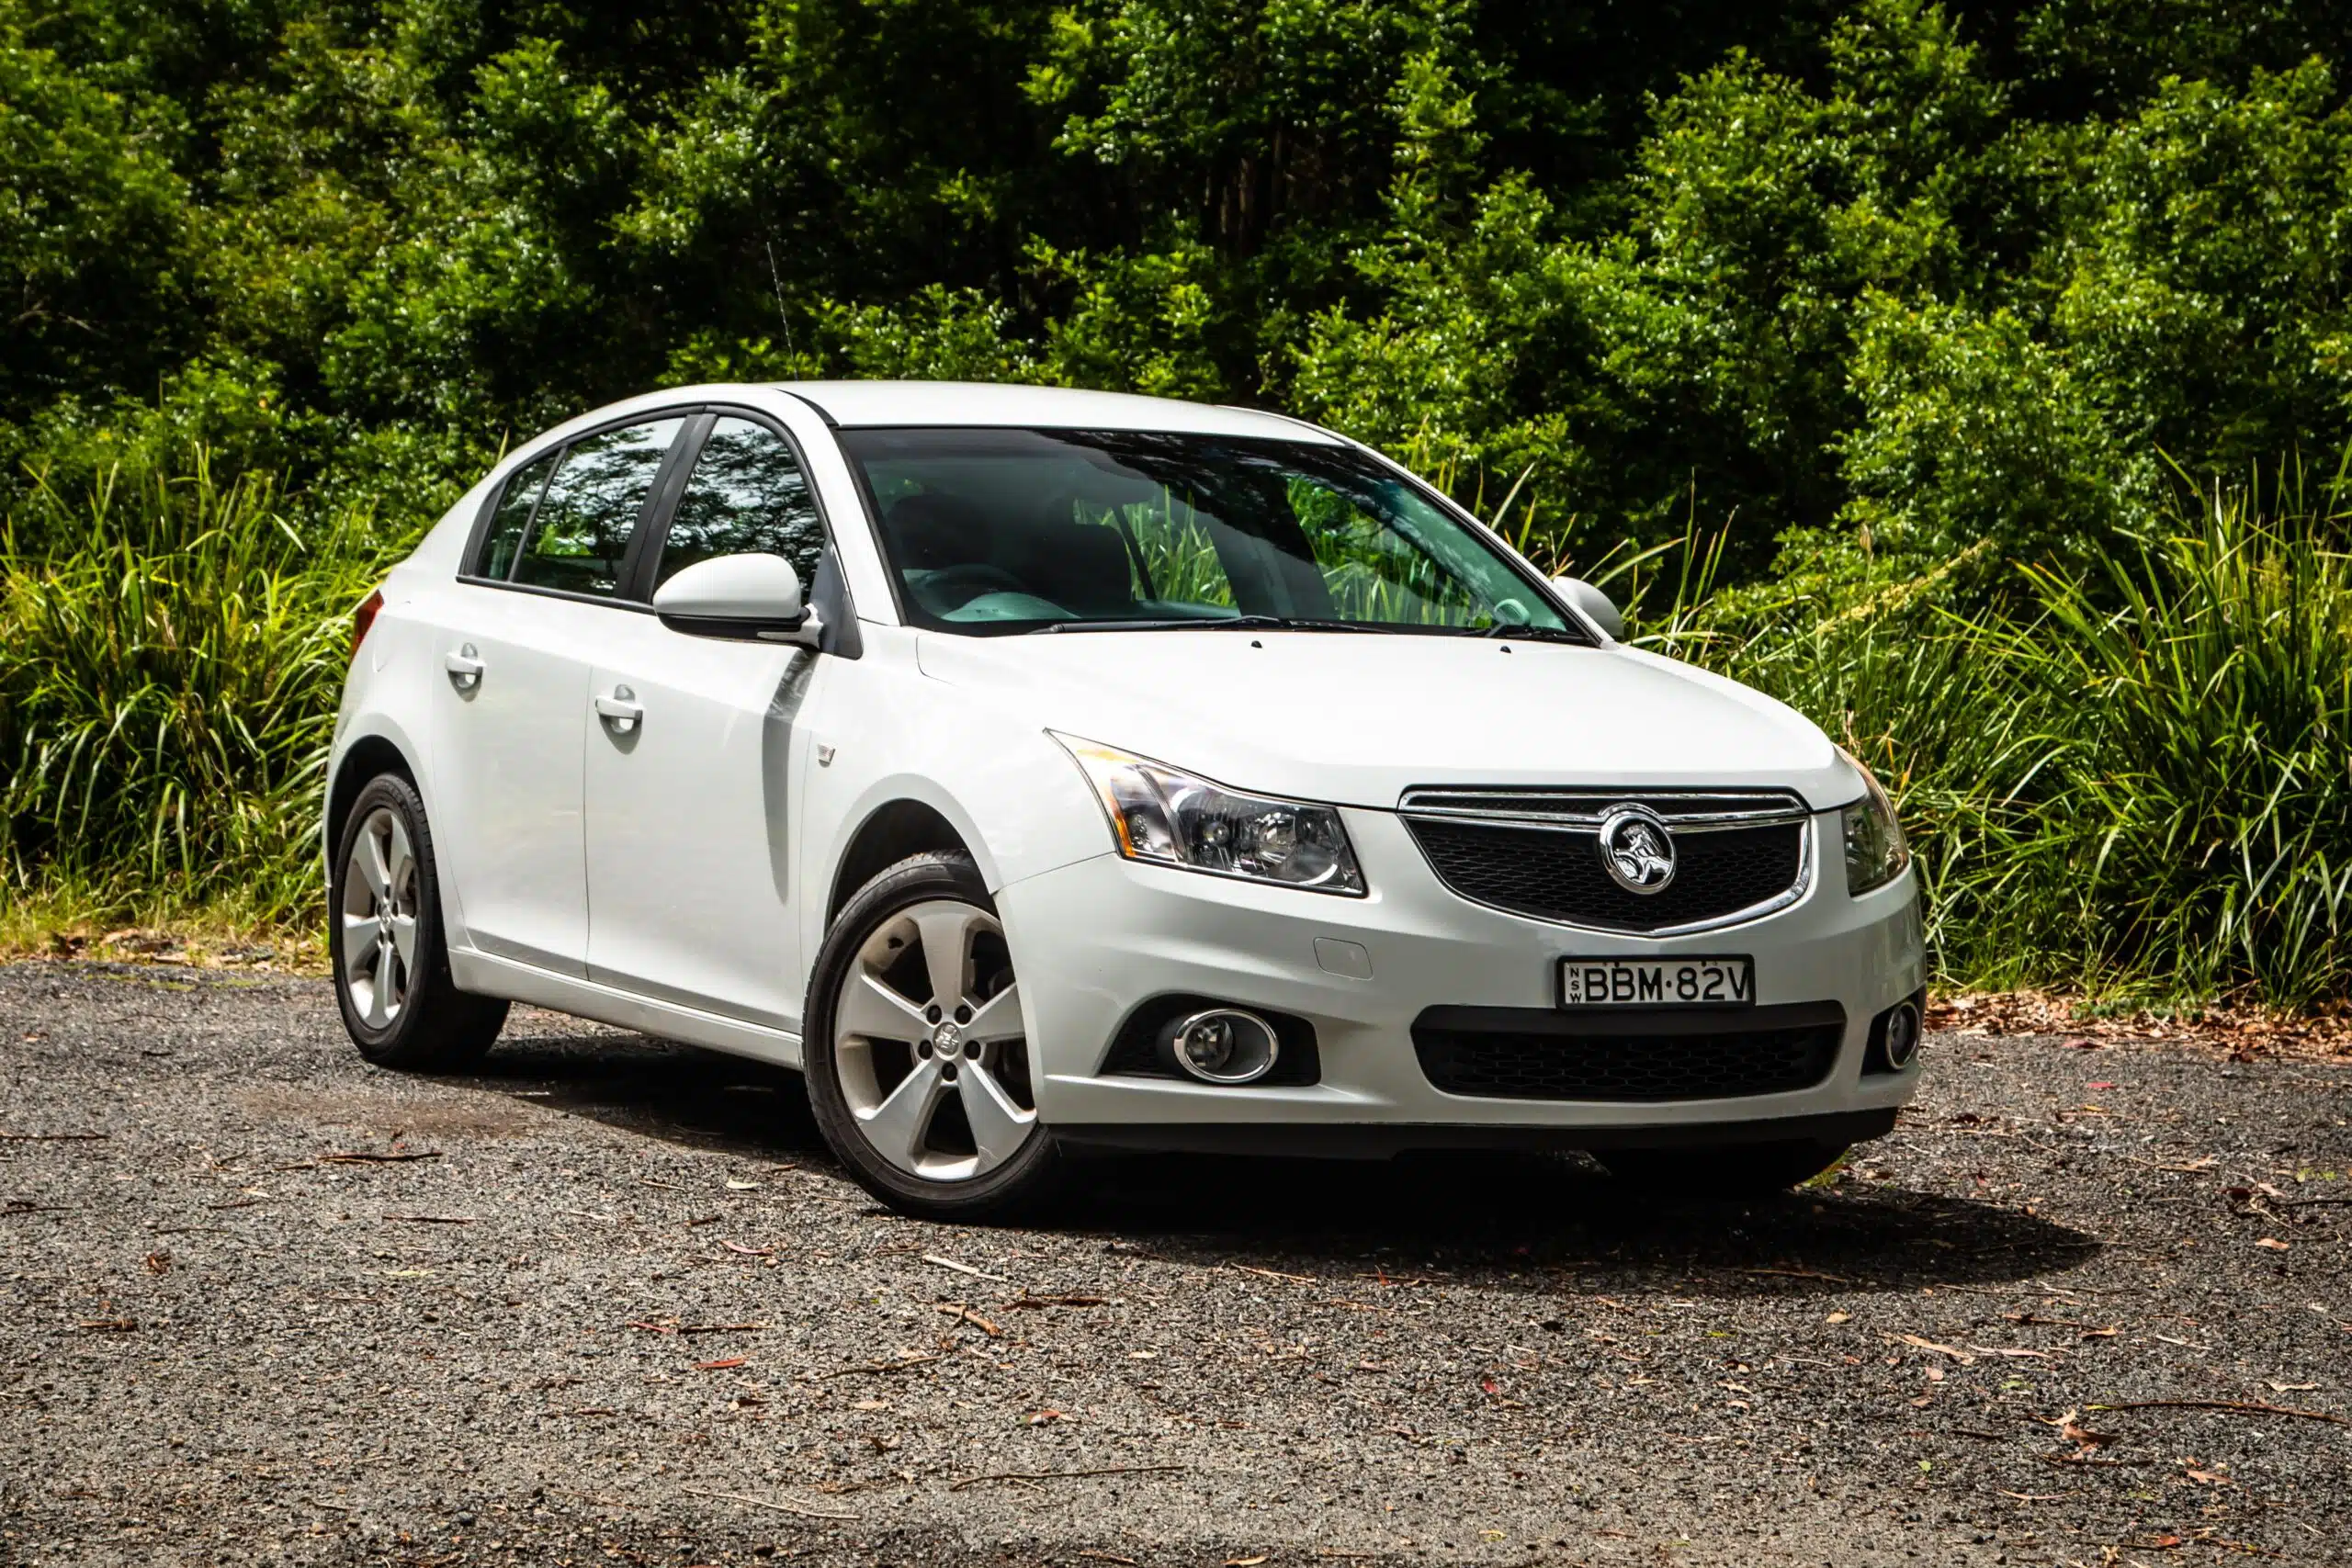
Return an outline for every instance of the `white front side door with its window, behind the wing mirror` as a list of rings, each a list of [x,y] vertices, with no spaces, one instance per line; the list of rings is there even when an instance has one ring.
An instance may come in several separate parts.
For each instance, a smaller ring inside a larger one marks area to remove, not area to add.
[[[731,411],[708,416],[706,430],[668,531],[649,545],[644,592],[715,555],[781,555],[826,625],[854,639],[793,444]],[[800,1027],[802,712],[837,663],[800,646],[687,637],[652,616],[633,616],[597,651],[590,684],[619,715],[588,736],[593,980]]]

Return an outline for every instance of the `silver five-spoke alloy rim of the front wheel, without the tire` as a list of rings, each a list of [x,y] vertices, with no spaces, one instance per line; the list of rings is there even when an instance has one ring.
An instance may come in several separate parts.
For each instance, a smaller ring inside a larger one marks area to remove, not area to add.
[[[1037,1133],[1004,926],[934,898],[882,922],[833,1004],[833,1070],[858,1133],[934,1182],[995,1171]]]

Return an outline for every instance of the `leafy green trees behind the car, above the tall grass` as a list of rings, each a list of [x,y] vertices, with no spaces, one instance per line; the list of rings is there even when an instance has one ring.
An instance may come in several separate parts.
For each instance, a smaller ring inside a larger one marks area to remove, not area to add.
[[[0,447],[412,515],[675,378],[1418,437],[1543,529],[2032,555],[2352,433],[2328,0],[0,0]]]

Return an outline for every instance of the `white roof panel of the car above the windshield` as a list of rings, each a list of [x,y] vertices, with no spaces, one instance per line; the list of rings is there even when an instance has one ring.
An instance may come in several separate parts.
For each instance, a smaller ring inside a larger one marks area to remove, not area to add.
[[[985,381],[783,381],[779,390],[814,404],[842,428],[1009,425],[1028,430],[1169,430],[1178,435],[1258,435],[1341,444],[1329,430],[1207,402],[1084,393],[1058,386]]]

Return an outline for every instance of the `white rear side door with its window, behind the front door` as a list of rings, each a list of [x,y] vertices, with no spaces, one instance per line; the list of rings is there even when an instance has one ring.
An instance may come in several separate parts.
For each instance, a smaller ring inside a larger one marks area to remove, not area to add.
[[[574,437],[517,468],[477,529],[435,658],[433,835],[482,952],[588,973],[583,745],[682,416]]]

